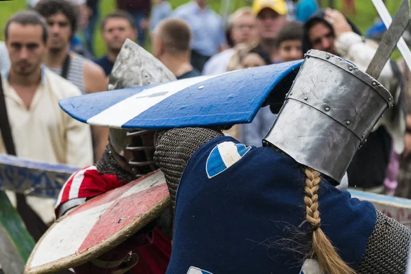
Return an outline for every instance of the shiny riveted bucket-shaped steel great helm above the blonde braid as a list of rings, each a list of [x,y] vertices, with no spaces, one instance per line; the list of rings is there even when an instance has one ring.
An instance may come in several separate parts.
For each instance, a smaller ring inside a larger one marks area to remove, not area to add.
[[[390,92],[355,65],[311,50],[263,144],[340,182],[392,103]]]

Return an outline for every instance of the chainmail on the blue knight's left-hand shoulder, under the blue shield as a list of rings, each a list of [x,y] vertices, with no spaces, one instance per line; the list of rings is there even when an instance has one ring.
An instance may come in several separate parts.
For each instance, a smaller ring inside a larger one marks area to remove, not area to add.
[[[223,136],[221,131],[202,127],[175,128],[158,132],[154,161],[164,173],[173,208],[179,179],[192,153],[201,145],[219,136]]]

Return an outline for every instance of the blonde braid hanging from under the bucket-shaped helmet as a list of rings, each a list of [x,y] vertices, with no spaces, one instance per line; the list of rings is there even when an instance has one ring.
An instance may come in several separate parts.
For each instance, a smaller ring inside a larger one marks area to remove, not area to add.
[[[338,255],[331,242],[325,236],[321,226],[319,212],[319,184],[321,173],[312,169],[304,169],[306,186],[304,186],[304,203],[306,203],[306,221],[312,229],[312,251],[325,273],[355,274],[356,272]]]

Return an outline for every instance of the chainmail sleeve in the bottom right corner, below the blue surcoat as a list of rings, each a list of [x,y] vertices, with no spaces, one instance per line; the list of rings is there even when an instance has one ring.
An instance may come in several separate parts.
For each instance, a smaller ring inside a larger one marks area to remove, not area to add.
[[[406,273],[410,244],[411,227],[377,210],[377,222],[356,273]]]

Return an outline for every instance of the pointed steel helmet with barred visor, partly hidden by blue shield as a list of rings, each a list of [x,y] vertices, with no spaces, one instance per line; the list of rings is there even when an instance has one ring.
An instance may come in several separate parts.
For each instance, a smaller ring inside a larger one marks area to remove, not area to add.
[[[171,71],[150,53],[126,40],[110,74],[109,90],[174,81]],[[109,147],[114,160],[137,178],[156,167],[153,162],[154,130],[109,129]]]

